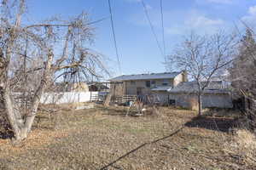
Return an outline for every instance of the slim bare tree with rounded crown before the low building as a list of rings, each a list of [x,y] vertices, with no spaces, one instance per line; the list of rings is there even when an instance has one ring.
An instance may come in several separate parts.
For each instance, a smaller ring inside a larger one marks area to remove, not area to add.
[[[198,115],[201,116],[204,91],[216,77],[224,72],[236,54],[236,35],[219,31],[212,36],[200,36],[194,32],[168,56],[166,65],[170,69],[188,72],[197,84]]]

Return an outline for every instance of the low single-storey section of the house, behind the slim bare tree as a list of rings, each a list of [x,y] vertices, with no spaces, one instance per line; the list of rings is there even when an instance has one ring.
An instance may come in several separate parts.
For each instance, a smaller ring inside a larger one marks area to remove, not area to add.
[[[206,82],[201,82],[206,83]],[[202,107],[203,108],[232,108],[232,99],[230,90],[223,88],[223,82],[212,81],[202,94]],[[175,88],[167,89],[169,93],[169,101],[173,105],[181,106],[189,109],[197,109],[198,105],[197,82],[181,82]]]

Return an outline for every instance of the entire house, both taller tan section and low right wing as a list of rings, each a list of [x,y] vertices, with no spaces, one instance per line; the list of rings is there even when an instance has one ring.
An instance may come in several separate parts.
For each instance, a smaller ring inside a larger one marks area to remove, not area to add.
[[[207,82],[201,82],[202,84]],[[123,75],[110,80],[113,96],[153,94],[160,104],[196,109],[197,82],[188,82],[186,71]],[[202,95],[203,108],[232,108],[230,90],[224,82],[211,81]]]

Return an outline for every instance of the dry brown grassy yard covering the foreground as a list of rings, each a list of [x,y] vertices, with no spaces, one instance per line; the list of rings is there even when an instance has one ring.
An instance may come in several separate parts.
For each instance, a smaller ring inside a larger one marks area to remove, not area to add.
[[[161,107],[158,115],[135,117],[126,111],[96,106],[39,114],[26,141],[13,146],[0,139],[0,169],[256,169],[253,156],[232,145],[230,113],[198,118],[195,111]]]

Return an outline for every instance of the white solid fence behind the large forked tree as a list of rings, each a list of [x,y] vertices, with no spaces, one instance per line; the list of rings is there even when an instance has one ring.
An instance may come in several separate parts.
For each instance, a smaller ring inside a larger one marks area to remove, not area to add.
[[[42,104],[67,104],[90,101],[91,96],[98,95],[98,92],[65,92],[45,93],[40,99]]]

